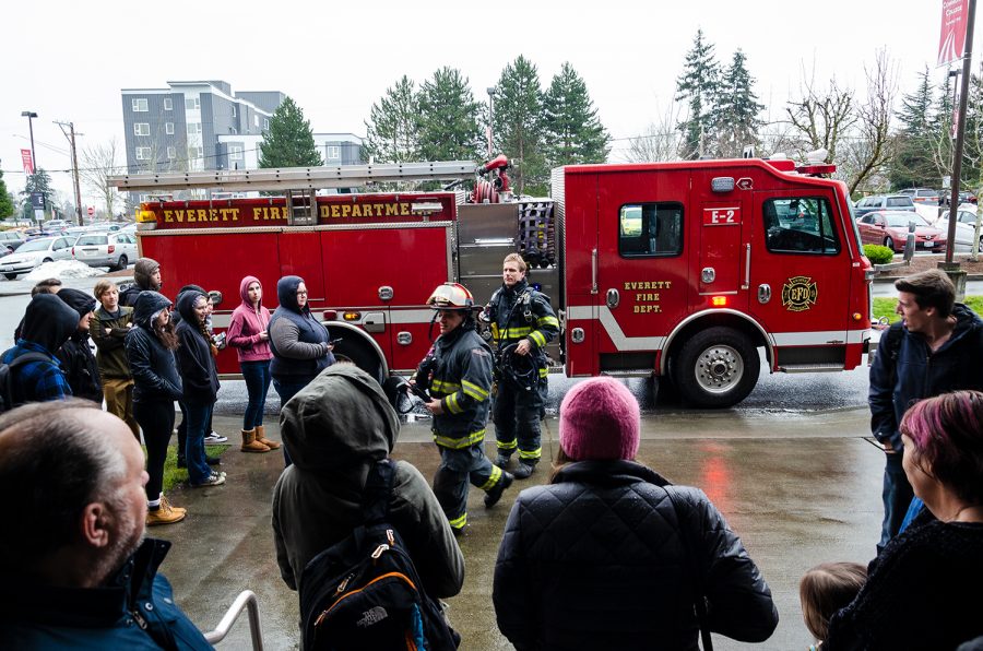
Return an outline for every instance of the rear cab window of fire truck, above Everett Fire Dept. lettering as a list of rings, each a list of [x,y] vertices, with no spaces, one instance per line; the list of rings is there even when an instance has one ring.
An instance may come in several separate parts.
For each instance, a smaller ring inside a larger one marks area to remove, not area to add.
[[[678,256],[683,251],[682,203],[632,203],[618,215],[618,252],[625,258]]]

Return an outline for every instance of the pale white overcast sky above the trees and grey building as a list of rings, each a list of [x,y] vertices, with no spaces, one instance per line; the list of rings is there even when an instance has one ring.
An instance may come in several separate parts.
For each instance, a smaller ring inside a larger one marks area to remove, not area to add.
[[[804,76],[862,88],[864,64],[886,48],[899,90],[928,66],[936,82],[941,0],[783,2],[280,2],[16,1],[2,11],[0,165],[11,191],[24,187],[29,149],[24,110],[38,114],[39,167],[71,193],[71,121],[80,149],[116,139],[122,152],[121,88],[224,80],[233,91],[282,91],[317,132],[365,135],[371,105],[401,75],[417,82],[443,66],[470,80],[478,100],[502,68],[524,55],[548,86],[564,61],[583,76],[615,140],[659,122],[698,28],[730,63],[747,56],[766,120],[782,118]],[[978,21],[979,23],[979,21]],[[974,61],[981,37],[974,38]],[[979,70],[979,63],[974,66]],[[119,163],[125,163],[121,158]],[[93,203],[83,187],[83,204]]]

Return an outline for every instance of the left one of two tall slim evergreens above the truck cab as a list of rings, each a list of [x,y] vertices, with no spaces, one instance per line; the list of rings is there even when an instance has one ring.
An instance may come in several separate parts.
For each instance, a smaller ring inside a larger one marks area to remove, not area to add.
[[[683,74],[676,80],[676,100],[689,106],[689,117],[677,126],[683,132],[683,158],[699,158],[713,152],[712,109],[719,87],[720,64],[713,45],[703,39],[702,29],[697,29]]]

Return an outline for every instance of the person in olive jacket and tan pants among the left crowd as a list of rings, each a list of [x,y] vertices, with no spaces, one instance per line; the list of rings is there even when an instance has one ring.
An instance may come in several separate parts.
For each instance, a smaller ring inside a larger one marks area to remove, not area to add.
[[[133,417],[133,376],[123,344],[133,327],[133,308],[119,305],[119,287],[112,281],[100,280],[93,294],[99,306],[88,332],[96,345],[106,411],[122,419],[139,441],[140,426]]]

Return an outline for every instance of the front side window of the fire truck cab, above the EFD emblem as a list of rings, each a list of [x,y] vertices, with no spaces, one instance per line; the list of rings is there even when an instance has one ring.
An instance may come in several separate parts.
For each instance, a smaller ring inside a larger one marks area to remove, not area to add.
[[[783,197],[763,204],[766,246],[772,253],[836,256],[840,237],[829,201],[822,197]]]

